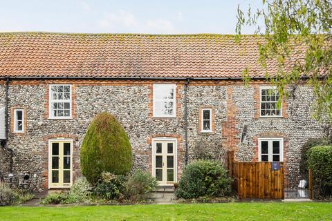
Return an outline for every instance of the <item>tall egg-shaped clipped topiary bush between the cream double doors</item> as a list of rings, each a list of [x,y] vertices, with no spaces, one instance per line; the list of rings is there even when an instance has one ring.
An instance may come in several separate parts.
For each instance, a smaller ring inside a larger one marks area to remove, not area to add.
[[[110,113],[95,116],[84,137],[81,153],[82,173],[95,184],[102,172],[128,173],[133,164],[131,145],[124,128]]]

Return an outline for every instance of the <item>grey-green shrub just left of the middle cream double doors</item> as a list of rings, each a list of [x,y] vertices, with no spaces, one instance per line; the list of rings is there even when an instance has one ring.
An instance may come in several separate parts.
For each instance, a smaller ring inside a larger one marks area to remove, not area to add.
[[[157,189],[158,182],[150,173],[136,170],[129,175],[126,187],[125,198],[131,201],[145,200],[149,193]]]

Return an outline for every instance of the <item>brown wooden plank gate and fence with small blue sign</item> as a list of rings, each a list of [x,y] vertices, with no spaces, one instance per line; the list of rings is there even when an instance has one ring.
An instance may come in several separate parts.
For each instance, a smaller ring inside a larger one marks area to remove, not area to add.
[[[228,173],[239,199],[284,199],[284,165],[271,169],[271,162],[237,162],[228,152]]]

